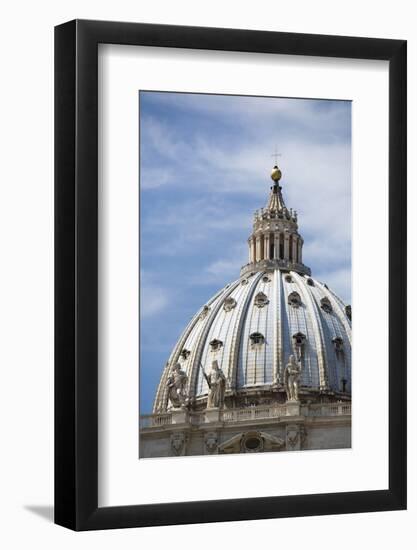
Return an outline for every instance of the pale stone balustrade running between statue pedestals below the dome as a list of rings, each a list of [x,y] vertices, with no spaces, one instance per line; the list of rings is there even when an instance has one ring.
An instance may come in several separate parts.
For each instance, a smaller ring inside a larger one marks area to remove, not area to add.
[[[343,416],[351,415],[350,403],[325,403],[302,405],[300,407],[302,416]],[[244,409],[224,409],[219,411],[219,421],[224,423],[232,422],[252,422],[256,420],[268,420],[272,418],[288,417],[295,414],[291,407],[287,405],[259,405],[257,407],[247,407]],[[174,413],[175,414],[175,413]],[[185,418],[185,417],[184,417]],[[205,411],[187,414],[188,423],[193,426],[200,426],[206,422]],[[161,413],[141,415],[141,428],[162,428],[175,423],[173,413]]]

